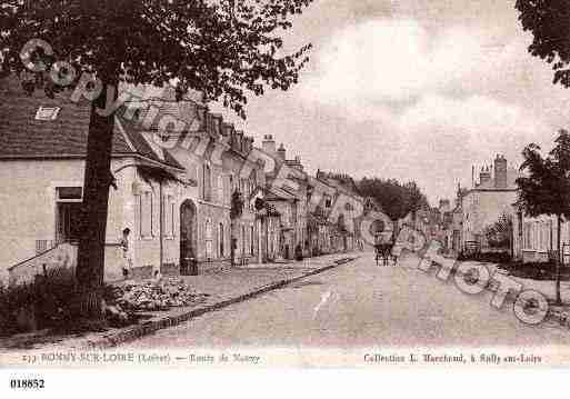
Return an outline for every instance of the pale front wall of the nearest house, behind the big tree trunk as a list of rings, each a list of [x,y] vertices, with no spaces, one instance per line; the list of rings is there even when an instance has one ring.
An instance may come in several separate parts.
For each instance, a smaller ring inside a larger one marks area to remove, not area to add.
[[[132,160],[113,160],[112,170]],[[126,210],[132,208],[132,168],[116,174],[118,190],[109,191],[107,243],[108,267],[118,267],[117,250],[124,223]],[[0,163],[0,276],[18,262],[36,256],[37,240],[56,240],[56,188],[82,187],[82,160],[13,160]],[[109,270],[111,271],[111,270]]]

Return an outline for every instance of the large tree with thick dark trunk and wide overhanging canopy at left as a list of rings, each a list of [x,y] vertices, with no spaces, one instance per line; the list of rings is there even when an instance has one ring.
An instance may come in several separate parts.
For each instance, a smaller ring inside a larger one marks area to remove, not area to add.
[[[246,118],[247,94],[298,82],[310,44],[283,53],[282,34],[312,0],[4,0],[0,4],[2,72],[21,72],[21,54],[49,74],[43,89],[86,83],[91,118],[77,279],[81,313],[101,316],[114,110],[118,86],[176,86],[220,100]],[[49,43],[32,43],[30,39]],[[61,61],[67,62],[66,64]],[[51,73],[50,73],[51,72]],[[74,76],[73,76],[73,72]],[[74,78],[74,79],[73,79]],[[83,79],[83,80],[82,80]],[[41,82],[36,79],[36,82]],[[101,83],[98,86],[98,83]],[[28,83],[27,83],[28,84]],[[98,93],[100,89],[100,94]],[[106,110],[106,111],[102,111]]]

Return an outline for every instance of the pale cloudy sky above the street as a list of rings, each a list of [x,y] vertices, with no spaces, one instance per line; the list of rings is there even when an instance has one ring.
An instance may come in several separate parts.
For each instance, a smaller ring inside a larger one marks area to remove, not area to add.
[[[287,48],[311,42],[289,91],[227,120],[273,134],[306,169],[416,180],[432,205],[471,187],[471,167],[570,128],[570,91],[531,57],[512,0],[314,0]],[[216,106],[213,106],[217,109]],[[219,108],[218,108],[219,109]]]

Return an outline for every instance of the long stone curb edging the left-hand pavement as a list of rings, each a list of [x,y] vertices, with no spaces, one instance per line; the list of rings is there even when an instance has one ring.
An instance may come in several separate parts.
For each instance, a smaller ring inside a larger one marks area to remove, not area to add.
[[[158,320],[149,320],[147,322],[142,322],[141,325],[128,328],[128,329],[122,330],[122,331],[118,331],[118,332],[112,333],[110,336],[102,337],[102,338],[97,339],[97,340],[90,340],[90,341],[88,341],[87,345],[82,346],[80,349],[83,349],[83,350],[99,349],[99,350],[101,350],[101,349],[112,348],[112,347],[116,347],[116,346],[121,345],[121,343],[130,342],[130,341],[133,341],[133,340],[136,340],[138,338],[148,336],[148,335],[150,335],[152,332],[156,332],[158,330],[161,330],[161,329],[164,329],[164,328],[169,328],[169,327],[178,326],[178,325],[180,325],[180,323],[182,323],[184,321],[188,321],[188,320],[190,320],[192,318],[202,316],[204,313],[208,313],[208,312],[211,312],[211,311],[216,311],[216,310],[226,308],[226,307],[228,307],[230,305],[233,305],[233,303],[243,302],[243,301],[246,301],[248,299],[258,297],[260,295],[267,293],[267,292],[276,290],[278,288],[282,288],[284,286],[288,286],[288,285],[292,283],[292,282],[297,282],[297,281],[299,281],[301,279],[304,279],[307,277],[316,276],[316,275],[322,273],[324,271],[334,269],[334,268],[337,268],[339,266],[352,262],[352,261],[354,261],[354,260],[357,260],[360,257],[358,257],[358,256],[357,257],[351,257],[351,258],[341,258],[339,260],[333,261],[332,265],[328,265],[328,266],[324,266],[324,267],[321,267],[321,268],[318,268],[318,269],[304,272],[304,273],[302,273],[300,276],[297,276],[297,277],[292,277],[292,278],[283,279],[283,280],[279,280],[279,281],[274,281],[274,282],[271,282],[269,285],[254,288],[252,291],[243,293],[243,295],[240,295],[240,296],[237,296],[234,298],[221,300],[220,302],[208,305],[208,306],[204,306],[204,307],[199,307],[199,308],[189,310],[189,311],[187,311],[187,312],[184,312],[182,315],[163,317],[163,318],[160,318]]]

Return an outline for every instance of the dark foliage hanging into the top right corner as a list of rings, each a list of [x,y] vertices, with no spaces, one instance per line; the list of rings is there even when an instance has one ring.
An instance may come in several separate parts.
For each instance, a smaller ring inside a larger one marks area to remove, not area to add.
[[[522,29],[534,37],[529,52],[552,66],[554,84],[570,87],[570,2],[517,0],[514,7]]]

